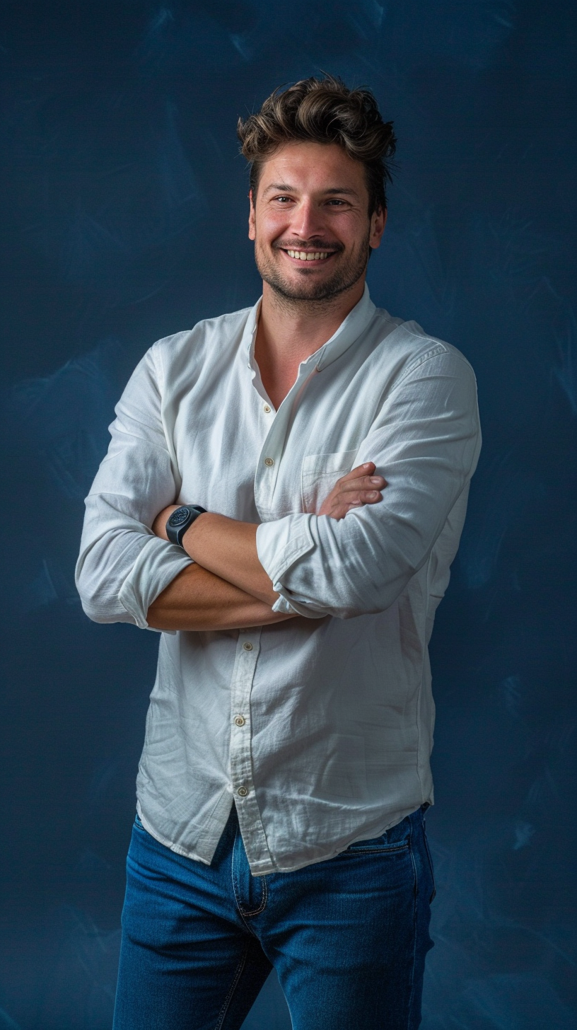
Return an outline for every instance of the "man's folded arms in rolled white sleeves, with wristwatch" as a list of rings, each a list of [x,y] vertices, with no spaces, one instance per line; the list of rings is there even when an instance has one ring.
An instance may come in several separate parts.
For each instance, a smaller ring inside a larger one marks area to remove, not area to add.
[[[87,499],[93,514],[77,582],[97,621],[227,629],[383,611],[427,561],[480,446],[470,367],[455,352],[436,354],[384,399],[358,451],[363,468],[337,483],[318,513],[259,526],[207,513],[182,551],[164,531],[180,485],[151,411],[157,394],[149,367],[134,388],[129,383]],[[374,474],[386,475],[386,489],[382,477],[369,482]]]

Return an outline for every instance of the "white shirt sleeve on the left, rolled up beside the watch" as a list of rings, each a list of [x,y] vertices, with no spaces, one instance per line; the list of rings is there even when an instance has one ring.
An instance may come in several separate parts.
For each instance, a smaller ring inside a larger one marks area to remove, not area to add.
[[[95,622],[146,628],[149,606],[192,563],[150,528],[180,486],[161,391],[162,366],[151,347],[116,405],[108,453],[86,500],[75,579],[82,608]]]

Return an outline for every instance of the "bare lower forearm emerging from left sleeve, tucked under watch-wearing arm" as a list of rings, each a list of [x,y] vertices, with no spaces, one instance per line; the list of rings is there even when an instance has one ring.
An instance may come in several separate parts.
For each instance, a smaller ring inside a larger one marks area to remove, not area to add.
[[[148,609],[148,625],[155,629],[244,629],[282,622],[259,600],[202,565],[182,570]]]

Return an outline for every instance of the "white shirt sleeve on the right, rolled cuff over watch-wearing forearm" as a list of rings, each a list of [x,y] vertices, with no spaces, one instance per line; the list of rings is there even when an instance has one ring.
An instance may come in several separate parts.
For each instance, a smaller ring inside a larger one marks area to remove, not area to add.
[[[425,356],[396,384],[361,444],[382,501],[337,521],[293,514],[257,530],[277,611],[351,618],[391,607],[425,564],[477,464],[480,427],[473,370],[452,349]]]

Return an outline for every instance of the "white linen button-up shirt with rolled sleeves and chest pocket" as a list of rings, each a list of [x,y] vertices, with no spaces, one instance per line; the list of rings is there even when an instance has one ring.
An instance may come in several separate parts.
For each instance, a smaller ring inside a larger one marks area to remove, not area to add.
[[[76,582],[97,622],[146,627],[191,562],[165,506],[259,523],[276,625],[163,632],[137,781],[144,827],[210,863],[236,803],[254,876],[332,858],[433,801],[428,642],[480,447],[473,371],[368,289],[275,411],[254,362],[260,302],[156,343],[115,409]],[[340,521],[336,481],[387,486]]]

